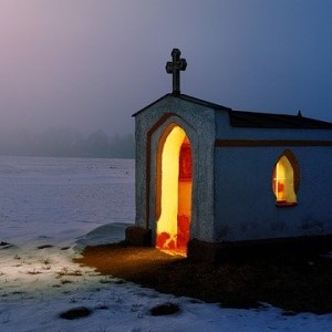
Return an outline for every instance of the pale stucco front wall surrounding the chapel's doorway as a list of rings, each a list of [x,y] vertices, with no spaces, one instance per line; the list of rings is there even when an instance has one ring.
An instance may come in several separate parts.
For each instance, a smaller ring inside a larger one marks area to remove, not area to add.
[[[190,237],[214,237],[214,110],[165,96],[139,112],[136,121],[136,225],[156,229],[155,179],[158,141],[165,128],[177,123],[189,137],[194,160]],[[147,153],[149,151],[149,157]],[[148,165],[146,165],[148,160]],[[149,167],[149,170],[147,170]],[[149,175],[149,178],[146,178]],[[148,211],[146,211],[148,206]],[[153,238],[154,239],[154,238]]]

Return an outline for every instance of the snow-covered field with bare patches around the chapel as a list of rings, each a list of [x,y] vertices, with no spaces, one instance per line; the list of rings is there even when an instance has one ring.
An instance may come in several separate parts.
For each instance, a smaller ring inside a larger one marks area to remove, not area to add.
[[[0,156],[0,331],[332,331],[332,314],[221,309],[73,263],[134,222],[133,160]],[[165,302],[180,312],[149,313]]]

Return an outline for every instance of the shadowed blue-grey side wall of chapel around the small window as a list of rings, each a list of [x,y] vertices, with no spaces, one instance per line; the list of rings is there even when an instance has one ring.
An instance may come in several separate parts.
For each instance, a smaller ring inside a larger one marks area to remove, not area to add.
[[[268,139],[332,139],[331,131],[251,128],[255,134],[249,136],[248,128],[224,125],[219,139],[229,138],[230,132],[237,139],[256,139],[257,131]],[[300,167],[298,205],[277,207],[272,170],[286,149]],[[332,234],[331,146],[216,146],[215,160],[215,241]]]

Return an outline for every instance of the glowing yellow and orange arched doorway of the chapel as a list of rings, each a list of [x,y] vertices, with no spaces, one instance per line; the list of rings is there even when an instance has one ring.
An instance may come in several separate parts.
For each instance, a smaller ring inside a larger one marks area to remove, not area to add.
[[[156,247],[186,256],[191,220],[193,156],[186,132],[167,126],[157,151]]]

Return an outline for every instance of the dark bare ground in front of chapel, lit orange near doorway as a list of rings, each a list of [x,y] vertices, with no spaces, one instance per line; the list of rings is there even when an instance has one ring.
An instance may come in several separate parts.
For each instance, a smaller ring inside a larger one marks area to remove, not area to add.
[[[324,255],[279,252],[212,264],[155,248],[116,243],[87,247],[75,262],[159,292],[217,302],[224,308],[270,303],[289,315],[332,312],[332,259]]]

